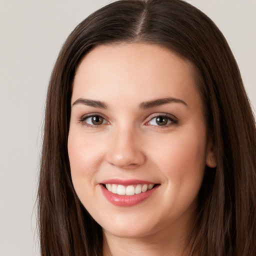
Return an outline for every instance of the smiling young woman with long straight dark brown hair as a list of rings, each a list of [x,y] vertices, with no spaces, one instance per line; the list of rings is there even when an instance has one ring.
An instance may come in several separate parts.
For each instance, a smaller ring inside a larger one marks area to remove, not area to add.
[[[69,35],[48,88],[42,255],[255,255],[256,133],[221,32],[120,0]]]

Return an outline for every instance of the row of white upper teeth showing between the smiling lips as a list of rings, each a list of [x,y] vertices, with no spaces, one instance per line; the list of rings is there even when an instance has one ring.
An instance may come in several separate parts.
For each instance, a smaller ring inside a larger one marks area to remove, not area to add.
[[[101,183],[101,185],[108,191],[118,195],[135,195],[151,190],[159,184],[134,184],[134,185],[121,185]]]

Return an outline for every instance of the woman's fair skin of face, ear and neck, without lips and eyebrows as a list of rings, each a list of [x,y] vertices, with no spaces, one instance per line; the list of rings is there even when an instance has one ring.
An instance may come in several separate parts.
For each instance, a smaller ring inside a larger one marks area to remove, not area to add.
[[[75,191],[103,228],[104,255],[182,254],[205,165],[216,164],[194,77],[189,61],[142,43],[100,45],[80,62],[68,154]],[[180,102],[139,107],[166,97]],[[107,107],[77,103],[79,98]],[[91,113],[101,115],[102,124],[88,126]],[[155,116],[166,113],[172,119],[158,125]],[[100,189],[100,181],[110,178],[160,185],[139,204],[115,206]]]

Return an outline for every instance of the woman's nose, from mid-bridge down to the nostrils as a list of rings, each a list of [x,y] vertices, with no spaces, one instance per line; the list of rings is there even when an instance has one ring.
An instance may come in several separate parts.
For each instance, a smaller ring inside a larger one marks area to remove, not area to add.
[[[145,161],[139,135],[133,129],[119,129],[109,137],[110,146],[106,160],[119,168],[135,168]]]

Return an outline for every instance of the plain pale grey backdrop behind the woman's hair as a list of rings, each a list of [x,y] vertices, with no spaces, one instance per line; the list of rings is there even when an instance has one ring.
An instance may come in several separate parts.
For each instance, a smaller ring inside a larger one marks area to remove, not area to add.
[[[187,0],[220,28],[256,108],[256,0]],[[0,0],[0,256],[39,255],[36,189],[45,93],[71,30],[106,0]]]

